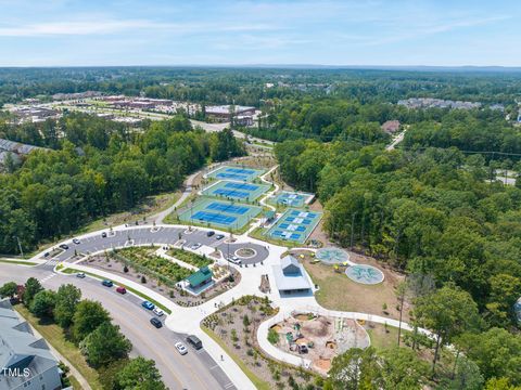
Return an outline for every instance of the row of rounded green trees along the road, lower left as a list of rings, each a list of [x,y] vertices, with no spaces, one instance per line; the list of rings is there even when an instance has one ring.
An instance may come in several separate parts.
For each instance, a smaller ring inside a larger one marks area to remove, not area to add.
[[[59,325],[87,363],[99,372],[103,389],[166,389],[154,361],[129,359],[131,342],[112,323],[102,304],[81,299],[76,286],[67,284],[56,291],[47,290],[37,278],[29,277],[24,286],[4,284],[0,298],[17,298],[39,320]]]

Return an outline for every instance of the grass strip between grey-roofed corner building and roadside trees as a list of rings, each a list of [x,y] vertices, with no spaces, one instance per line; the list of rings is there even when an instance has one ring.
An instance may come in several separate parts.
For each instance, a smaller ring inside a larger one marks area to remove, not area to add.
[[[56,324],[40,324],[39,320],[22,304],[16,304],[14,308],[58,352],[71,363],[74,363],[76,369],[85,377],[92,389],[102,389],[99,374],[87,364],[79,349],[65,338],[60,326]]]

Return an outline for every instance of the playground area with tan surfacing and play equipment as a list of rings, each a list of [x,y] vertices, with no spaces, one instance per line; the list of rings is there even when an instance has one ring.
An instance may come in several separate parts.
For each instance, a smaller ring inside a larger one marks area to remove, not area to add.
[[[321,374],[328,373],[334,356],[370,344],[369,335],[356,321],[313,313],[293,312],[271,329],[279,334],[279,348],[305,355]]]

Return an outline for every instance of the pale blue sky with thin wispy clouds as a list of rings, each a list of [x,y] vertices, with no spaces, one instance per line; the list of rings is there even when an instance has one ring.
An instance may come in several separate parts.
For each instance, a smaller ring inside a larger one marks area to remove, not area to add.
[[[520,0],[0,0],[0,66],[521,66]]]

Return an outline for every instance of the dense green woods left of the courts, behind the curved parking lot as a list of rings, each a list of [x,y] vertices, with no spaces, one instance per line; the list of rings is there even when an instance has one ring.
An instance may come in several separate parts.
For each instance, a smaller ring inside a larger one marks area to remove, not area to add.
[[[0,252],[16,252],[17,239],[24,250],[33,249],[145,196],[178,188],[207,160],[244,153],[231,131],[193,130],[182,117],[148,122],[142,132],[85,114],[42,126],[53,130],[38,143],[58,150],[36,151],[20,169],[0,176]],[[10,131],[16,129],[25,127]]]

